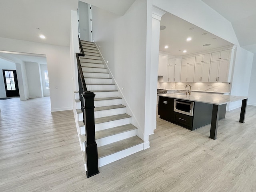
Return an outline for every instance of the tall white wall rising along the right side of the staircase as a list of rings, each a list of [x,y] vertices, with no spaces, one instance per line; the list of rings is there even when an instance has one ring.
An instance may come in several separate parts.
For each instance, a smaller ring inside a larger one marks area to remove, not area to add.
[[[147,1],[136,0],[120,17],[92,8],[93,38],[134,114],[134,125],[144,134]],[[148,103],[147,103],[148,104]],[[130,109],[130,111],[129,111]],[[141,138],[144,135],[139,133]],[[147,136],[148,137],[148,136]]]

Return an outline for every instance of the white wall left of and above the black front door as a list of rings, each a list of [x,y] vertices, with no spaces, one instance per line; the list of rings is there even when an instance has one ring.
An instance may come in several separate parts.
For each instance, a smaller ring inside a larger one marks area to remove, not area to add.
[[[0,58],[0,98],[6,97],[3,69],[16,70],[16,65],[15,65],[15,63],[12,63],[12,62],[9,62],[9,61],[6,61],[6,60]]]

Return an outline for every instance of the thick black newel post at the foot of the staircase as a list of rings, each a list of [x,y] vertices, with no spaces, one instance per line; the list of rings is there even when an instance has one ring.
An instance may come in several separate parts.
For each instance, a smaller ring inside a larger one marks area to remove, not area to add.
[[[94,97],[95,94],[90,91],[83,93],[84,97],[84,125],[85,125],[85,156],[86,156],[86,176],[91,177],[99,173],[98,170],[98,149],[95,141],[94,124]]]

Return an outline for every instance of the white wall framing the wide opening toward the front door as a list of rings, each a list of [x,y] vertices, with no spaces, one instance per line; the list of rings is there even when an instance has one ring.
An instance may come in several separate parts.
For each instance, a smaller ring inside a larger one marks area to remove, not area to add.
[[[69,47],[0,38],[0,50],[46,55],[52,111],[70,110],[72,73]]]

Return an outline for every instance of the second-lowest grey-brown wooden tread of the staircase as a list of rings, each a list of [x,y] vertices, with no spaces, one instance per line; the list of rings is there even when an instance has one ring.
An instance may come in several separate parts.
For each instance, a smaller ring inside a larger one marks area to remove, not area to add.
[[[134,130],[134,129],[137,129],[134,125],[126,124],[126,125],[122,125],[122,126],[118,126],[118,127],[114,127],[114,128],[109,128],[109,129],[105,129],[105,130],[101,130],[101,131],[96,131],[95,132],[95,138],[96,139],[101,139],[101,138],[104,138],[104,137],[108,137],[108,136],[111,136],[111,135],[127,132],[127,131]]]

